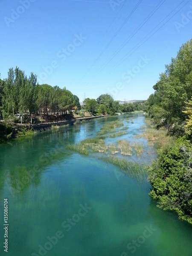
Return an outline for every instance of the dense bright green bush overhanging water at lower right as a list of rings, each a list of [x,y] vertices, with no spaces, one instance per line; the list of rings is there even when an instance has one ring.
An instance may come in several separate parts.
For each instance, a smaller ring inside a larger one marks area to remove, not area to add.
[[[150,168],[150,195],[158,206],[175,210],[192,224],[192,144],[178,139]]]

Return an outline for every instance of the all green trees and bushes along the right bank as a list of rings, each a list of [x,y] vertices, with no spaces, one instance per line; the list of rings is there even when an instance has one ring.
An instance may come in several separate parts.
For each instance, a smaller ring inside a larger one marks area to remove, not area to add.
[[[192,40],[183,44],[160,74],[155,92],[144,103],[157,128],[178,138],[149,168],[152,198],[192,224]]]

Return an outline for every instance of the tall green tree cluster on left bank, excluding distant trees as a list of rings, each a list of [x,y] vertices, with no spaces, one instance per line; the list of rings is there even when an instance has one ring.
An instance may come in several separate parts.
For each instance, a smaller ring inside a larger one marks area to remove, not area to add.
[[[19,113],[21,123],[23,117],[31,118],[39,113],[53,115],[67,114],[73,106],[81,108],[79,98],[65,87],[52,87],[49,84],[37,83],[37,76],[31,73],[29,78],[18,67],[9,69],[8,78],[0,80],[0,116],[8,119]]]

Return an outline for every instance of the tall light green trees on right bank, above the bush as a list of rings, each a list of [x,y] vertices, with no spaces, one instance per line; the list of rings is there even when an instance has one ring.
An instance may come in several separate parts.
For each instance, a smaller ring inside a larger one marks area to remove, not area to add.
[[[155,92],[145,103],[145,110],[157,125],[166,125],[170,133],[183,135],[185,102],[192,97],[192,40],[180,47],[153,88]]]

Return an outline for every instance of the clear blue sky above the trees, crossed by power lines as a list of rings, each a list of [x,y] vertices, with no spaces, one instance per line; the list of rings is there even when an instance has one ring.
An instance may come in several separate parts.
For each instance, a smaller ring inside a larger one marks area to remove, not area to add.
[[[192,1],[0,0],[0,32],[1,79],[17,66],[80,101],[84,93],[147,99],[165,64],[192,38]]]

